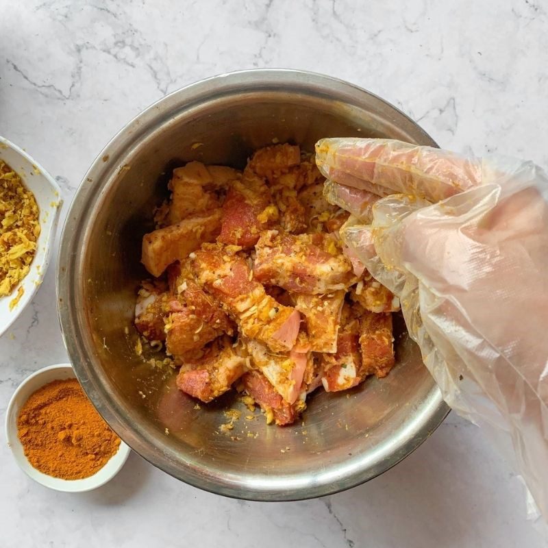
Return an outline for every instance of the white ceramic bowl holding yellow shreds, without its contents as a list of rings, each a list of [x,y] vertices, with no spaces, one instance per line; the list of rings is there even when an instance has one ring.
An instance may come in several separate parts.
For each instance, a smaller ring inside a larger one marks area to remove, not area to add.
[[[60,188],[53,177],[25,151],[1,136],[0,160],[8,164],[34,194],[40,210],[40,226],[42,227],[29,273],[15,286],[10,295],[0,297],[1,336],[32,300],[38,286],[42,283],[51,256],[62,199]],[[23,295],[10,310],[10,303],[16,297],[20,287],[23,287]]]

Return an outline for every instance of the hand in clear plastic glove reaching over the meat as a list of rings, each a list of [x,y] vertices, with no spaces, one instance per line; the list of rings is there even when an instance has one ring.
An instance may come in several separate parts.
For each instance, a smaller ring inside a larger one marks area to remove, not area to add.
[[[341,236],[354,264],[399,296],[445,401],[513,447],[548,519],[546,173],[376,139],[321,140],[316,163],[352,213]]]

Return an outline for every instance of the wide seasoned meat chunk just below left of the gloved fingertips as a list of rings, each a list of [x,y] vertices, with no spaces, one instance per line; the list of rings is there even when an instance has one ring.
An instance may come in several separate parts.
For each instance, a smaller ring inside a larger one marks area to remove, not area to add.
[[[345,289],[356,282],[339,242],[323,233],[295,236],[277,230],[262,232],[253,273],[263,284],[314,295]]]

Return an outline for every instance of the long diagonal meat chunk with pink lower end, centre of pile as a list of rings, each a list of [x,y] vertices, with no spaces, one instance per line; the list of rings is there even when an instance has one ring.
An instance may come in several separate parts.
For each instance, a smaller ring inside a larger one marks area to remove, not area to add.
[[[245,258],[220,245],[204,246],[196,252],[192,269],[198,284],[223,305],[243,336],[262,341],[274,352],[292,349],[299,334],[299,312],[266,295]]]

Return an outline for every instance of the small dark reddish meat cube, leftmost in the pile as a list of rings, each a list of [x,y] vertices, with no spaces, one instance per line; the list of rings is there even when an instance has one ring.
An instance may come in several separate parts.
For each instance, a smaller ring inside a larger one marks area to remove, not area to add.
[[[135,327],[148,340],[165,340],[164,317],[171,295],[162,282],[142,282],[135,305]]]

